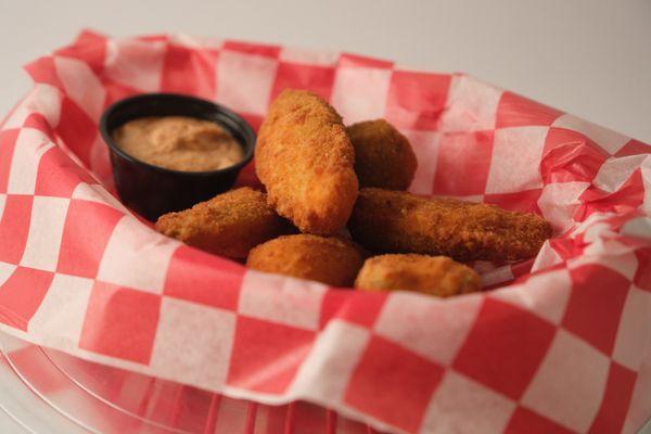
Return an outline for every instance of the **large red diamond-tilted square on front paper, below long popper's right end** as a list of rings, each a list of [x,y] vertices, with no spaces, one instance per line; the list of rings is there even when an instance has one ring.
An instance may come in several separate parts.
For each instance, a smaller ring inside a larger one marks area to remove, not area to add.
[[[519,399],[551,345],[556,328],[514,305],[485,298],[454,367]]]

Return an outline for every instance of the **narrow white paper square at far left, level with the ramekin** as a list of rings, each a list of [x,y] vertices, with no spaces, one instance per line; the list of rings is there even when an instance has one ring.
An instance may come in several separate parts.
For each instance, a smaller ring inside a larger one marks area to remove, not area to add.
[[[34,128],[23,128],[16,138],[7,192],[9,194],[34,194],[38,163],[41,156],[54,144],[44,132]]]

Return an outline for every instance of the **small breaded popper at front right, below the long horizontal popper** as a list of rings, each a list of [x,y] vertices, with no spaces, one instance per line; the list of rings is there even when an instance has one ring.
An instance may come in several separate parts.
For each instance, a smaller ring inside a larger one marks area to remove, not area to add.
[[[478,291],[480,275],[447,256],[416,254],[369,258],[355,286],[367,291],[413,291],[438,297]]]

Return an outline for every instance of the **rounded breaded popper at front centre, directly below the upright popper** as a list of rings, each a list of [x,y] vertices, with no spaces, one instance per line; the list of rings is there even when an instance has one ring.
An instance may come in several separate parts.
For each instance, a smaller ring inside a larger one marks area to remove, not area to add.
[[[302,233],[258,245],[248,254],[246,266],[332,286],[352,286],[363,259],[363,251],[347,240]]]

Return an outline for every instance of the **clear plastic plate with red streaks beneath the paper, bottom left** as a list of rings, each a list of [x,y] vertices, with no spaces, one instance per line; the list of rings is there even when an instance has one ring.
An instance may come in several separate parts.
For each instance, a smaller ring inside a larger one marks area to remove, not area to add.
[[[231,399],[85,361],[4,333],[0,333],[0,410],[14,432],[375,432],[307,403],[266,406]]]

